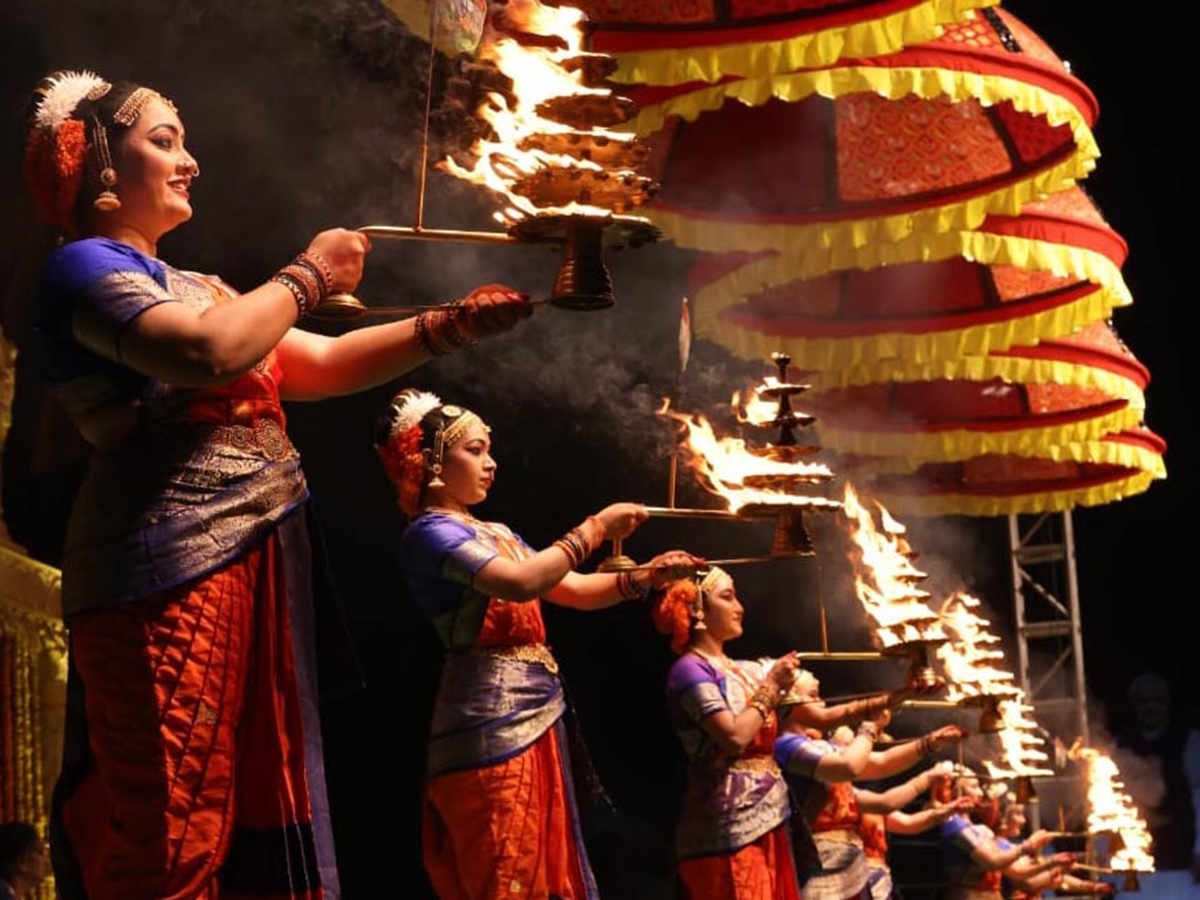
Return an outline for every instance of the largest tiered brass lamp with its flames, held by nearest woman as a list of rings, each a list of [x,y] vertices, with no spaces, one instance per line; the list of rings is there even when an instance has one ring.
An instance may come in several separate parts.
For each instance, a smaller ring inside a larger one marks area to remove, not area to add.
[[[487,126],[463,157],[443,160],[449,174],[487,187],[508,238],[556,244],[564,262],[548,302],[569,310],[612,306],[606,247],[636,247],[659,230],[630,215],[656,185],[641,168],[648,148],[611,131],[637,114],[614,94],[614,61],[583,50],[583,13],[541,0],[506,5],[480,46],[480,59],[509,79],[476,110]]]

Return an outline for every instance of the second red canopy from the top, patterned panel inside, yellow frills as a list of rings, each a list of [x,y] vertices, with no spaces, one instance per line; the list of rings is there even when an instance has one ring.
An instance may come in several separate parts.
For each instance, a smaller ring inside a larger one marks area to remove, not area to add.
[[[842,265],[877,264],[874,245],[1016,215],[1099,152],[1094,97],[1049,50],[1024,49],[1034,44],[996,13],[887,56],[641,88],[640,133],[686,120],[653,138],[662,188],[650,215],[684,247],[816,250]]]

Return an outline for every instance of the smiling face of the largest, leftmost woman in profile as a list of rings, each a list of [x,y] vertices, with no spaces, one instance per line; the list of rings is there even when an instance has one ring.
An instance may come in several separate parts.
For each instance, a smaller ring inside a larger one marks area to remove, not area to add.
[[[109,131],[112,136],[112,131]],[[112,146],[121,208],[98,214],[157,240],[192,217],[190,190],[198,172],[184,146],[184,122],[158,97],[151,97],[122,139]]]

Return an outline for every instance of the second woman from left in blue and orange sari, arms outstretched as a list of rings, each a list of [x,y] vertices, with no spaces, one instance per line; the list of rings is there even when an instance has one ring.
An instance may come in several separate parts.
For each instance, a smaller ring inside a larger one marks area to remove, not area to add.
[[[644,598],[696,560],[671,552],[631,572],[575,572],[646,518],[632,503],[588,516],[540,552],[475,518],[470,508],[496,478],[488,428],[432,394],[397,395],[376,446],[412,518],[404,575],[446,649],[422,814],[433,889],[442,900],[594,900],[540,599],[600,610]]]

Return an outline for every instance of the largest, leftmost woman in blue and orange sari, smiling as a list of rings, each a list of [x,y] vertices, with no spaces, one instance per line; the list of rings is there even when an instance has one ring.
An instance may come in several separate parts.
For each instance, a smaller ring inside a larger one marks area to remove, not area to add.
[[[95,446],[62,559],[60,896],[336,898],[308,491],[280,400],[386,382],[528,304],[486,289],[329,338],[293,325],[358,284],[362,235],[323,232],[245,294],[163,263],[199,175],[184,124],[90,72],[38,86],[25,174],[65,241],[38,298],[46,377]]]

